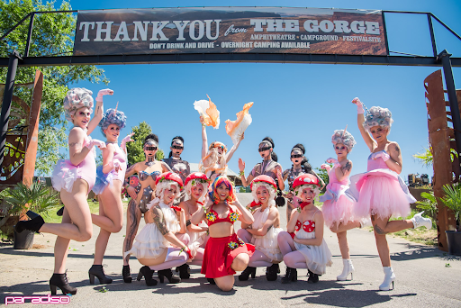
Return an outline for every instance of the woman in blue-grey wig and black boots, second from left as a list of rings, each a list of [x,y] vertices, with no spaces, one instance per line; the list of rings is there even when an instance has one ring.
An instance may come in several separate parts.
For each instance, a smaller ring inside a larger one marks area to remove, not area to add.
[[[111,233],[122,230],[123,204],[122,184],[125,180],[127,163],[126,142],[132,141],[131,135],[123,138],[119,147],[117,140],[125,127],[124,113],[109,108],[99,122],[101,131],[107,139],[103,149],[103,165],[96,168],[96,183],[93,187],[99,201],[99,215],[91,214],[93,223],[101,228],[95,243],[95,258],[89,269],[90,283],[95,283],[97,276],[100,284],[110,284],[112,279],[104,275],[103,258]]]

